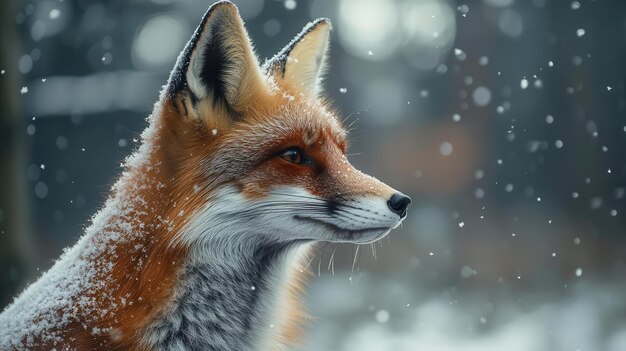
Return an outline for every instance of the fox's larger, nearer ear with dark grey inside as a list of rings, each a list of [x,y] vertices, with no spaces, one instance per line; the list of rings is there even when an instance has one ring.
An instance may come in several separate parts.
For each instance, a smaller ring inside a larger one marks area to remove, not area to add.
[[[178,57],[168,93],[186,90],[194,105],[206,101],[242,111],[264,84],[237,7],[221,1],[205,13]]]

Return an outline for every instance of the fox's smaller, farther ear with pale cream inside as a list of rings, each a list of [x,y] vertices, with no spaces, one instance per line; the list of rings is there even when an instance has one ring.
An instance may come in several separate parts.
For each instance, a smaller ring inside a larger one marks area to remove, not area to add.
[[[265,71],[287,88],[317,96],[321,91],[331,29],[327,18],[310,22],[291,43],[265,63]]]

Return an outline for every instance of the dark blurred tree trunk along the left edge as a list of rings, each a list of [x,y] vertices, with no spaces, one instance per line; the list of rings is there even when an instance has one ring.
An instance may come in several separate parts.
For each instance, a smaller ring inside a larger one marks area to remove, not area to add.
[[[34,267],[25,169],[28,140],[20,109],[20,46],[14,2],[0,1],[0,309],[12,300]]]

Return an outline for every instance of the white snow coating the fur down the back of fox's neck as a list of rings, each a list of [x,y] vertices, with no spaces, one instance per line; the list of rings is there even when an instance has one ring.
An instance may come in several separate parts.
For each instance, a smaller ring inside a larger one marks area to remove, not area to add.
[[[160,115],[158,103],[154,115]],[[94,293],[111,281],[108,273],[113,263],[101,258],[114,257],[117,245],[141,235],[134,228],[139,226],[137,216],[145,201],[137,194],[153,184],[130,180],[132,170],[151,167],[151,141],[156,134],[152,116],[148,117],[150,126],[142,134],[142,146],[126,159],[127,171],[113,186],[113,195],[104,208],[92,217],[85,234],[0,314],[0,349],[62,342],[61,333],[70,323],[105,317],[114,313],[111,307],[123,303],[112,296],[102,296],[102,292]]]

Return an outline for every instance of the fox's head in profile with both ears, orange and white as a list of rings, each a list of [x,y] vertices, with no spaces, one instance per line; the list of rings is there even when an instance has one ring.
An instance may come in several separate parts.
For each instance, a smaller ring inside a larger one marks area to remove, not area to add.
[[[162,96],[172,200],[189,212],[175,242],[370,243],[405,218],[409,197],[350,164],[320,96],[330,30],[309,23],[261,66],[235,5],[207,11]]]

